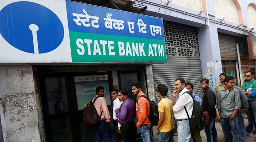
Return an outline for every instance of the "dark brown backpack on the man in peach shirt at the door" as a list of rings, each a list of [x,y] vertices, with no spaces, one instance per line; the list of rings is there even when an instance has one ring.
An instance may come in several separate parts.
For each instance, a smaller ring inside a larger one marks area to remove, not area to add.
[[[97,96],[93,102],[92,102],[93,99],[91,99],[90,103],[87,104],[87,107],[84,108],[84,112],[83,112],[84,113],[84,123],[88,127],[96,126],[100,122],[102,111],[99,116],[99,114],[97,113],[97,110],[94,106],[94,102],[99,97],[100,96]]]

